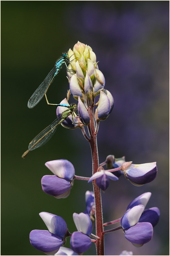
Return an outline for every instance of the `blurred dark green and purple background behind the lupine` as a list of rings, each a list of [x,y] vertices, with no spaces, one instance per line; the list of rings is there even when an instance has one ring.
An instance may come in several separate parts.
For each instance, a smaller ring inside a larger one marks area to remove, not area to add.
[[[123,216],[131,200],[151,191],[147,208],[161,211],[153,239],[136,248],[121,230],[106,234],[105,254],[168,255],[169,1],[1,1],[1,255],[44,255],[29,243],[32,229],[46,229],[39,212],[62,216],[73,232],[73,212],[85,210],[91,184],[75,181],[69,197],[55,199],[40,182],[51,174],[45,162],[55,159],[67,159],[77,175],[91,176],[90,147],[79,129],[58,127],[47,144],[21,159],[34,136],[56,118],[56,108],[44,98],[33,109],[27,101],[56,59],[78,40],[92,47],[105,89],[115,99],[99,127],[100,162],[114,154],[158,164],[151,184],[134,187],[120,177],[102,194],[106,222]],[[49,101],[59,103],[68,88],[63,68],[48,91]],[[84,254],[95,255],[94,244]]]

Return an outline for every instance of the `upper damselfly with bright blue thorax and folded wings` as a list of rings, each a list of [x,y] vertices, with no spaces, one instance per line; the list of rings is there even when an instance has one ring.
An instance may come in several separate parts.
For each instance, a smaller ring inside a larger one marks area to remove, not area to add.
[[[70,64],[69,57],[66,53],[63,54],[63,56],[55,63],[55,66],[53,69],[49,72],[49,74],[46,76],[46,78],[43,80],[43,82],[40,84],[40,86],[34,91],[32,96],[30,97],[28,101],[28,107],[34,108],[36,104],[43,98],[43,96],[46,96],[46,93],[48,91],[49,86],[53,82],[56,75],[58,75],[58,72],[60,71],[60,68],[62,65],[66,65],[67,71],[75,71],[73,69],[68,69],[67,65]],[[48,102],[47,102],[48,103]]]

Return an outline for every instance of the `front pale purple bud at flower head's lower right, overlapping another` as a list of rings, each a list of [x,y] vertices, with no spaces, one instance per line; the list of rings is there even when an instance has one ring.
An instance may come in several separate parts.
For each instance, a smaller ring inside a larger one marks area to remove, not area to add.
[[[95,110],[95,119],[97,121],[105,120],[110,113],[110,109],[109,97],[103,91],[100,91],[99,104]]]

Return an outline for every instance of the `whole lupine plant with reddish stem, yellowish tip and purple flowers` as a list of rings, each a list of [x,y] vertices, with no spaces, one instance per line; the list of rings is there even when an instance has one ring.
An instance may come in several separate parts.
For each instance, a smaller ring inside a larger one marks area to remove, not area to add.
[[[61,104],[69,104],[69,97],[72,94],[78,101],[78,114],[68,116],[61,125],[68,129],[80,128],[84,138],[89,142],[92,155],[91,177],[78,176],[78,170],[75,170],[71,162],[67,159],[59,159],[45,163],[53,175],[47,173],[42,177],[41,184],[43,191],[57,200],[61,198],[65,200],[64,198],[69,196],[75,179],[80,182],[81,180],[91,182],[93,191],[85,193],[84,212],[73,214],[77,230],[70,233],[62,217],[41,212],[40,217],[48,230],[32,230],[30,243],[47,255],[82,255],[91,247],[91,243],[95,243],[97,255],[104,255],[104,234],[122,229],[122,235],[129,242],[136,247],[143,246],[152,239],[153,227],[158,223],[160,216],[157,207],[145,209],[151,193],[146,192],[136,197],[125,208],[123,216],[107,223],[103,223],[101,193],[107,193],[108,186],[112,186],[115,181],[119,182],[119,176],[123,174],[135,186],[151,182],[157,175],[156,162],[133,164],[132,161],[126,162],[124,156],[115,158],[114,155],[108,155],[106,161],[99,163],[97,148],[99,122],[111,118],[109,115],[114,107],[114,99],[105,89],[104,75],[90,46],[77,42],[73,50],[69,49],[68,57],[69,90],[67,98],[63,99]],[[58,106],[57,117],[66,109],[64,106]],[[118,227],[104,230],[105,226],[118,222],[120,222]],[[69,237],[71,249],[65,247]],[[120,250],[120,255],[132,255],[132,252]]]

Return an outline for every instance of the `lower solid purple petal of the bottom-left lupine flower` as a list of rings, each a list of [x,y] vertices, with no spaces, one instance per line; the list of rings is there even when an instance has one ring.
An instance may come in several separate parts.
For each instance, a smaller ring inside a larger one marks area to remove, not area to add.
[[[32,230],[30,232],[30,243],[39,251],[43,251],[48,255],[54,255],[60,246],[62,246],[62,238],[51,234],[48,230]]]

